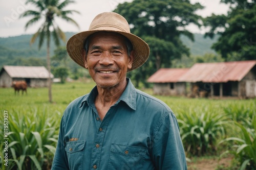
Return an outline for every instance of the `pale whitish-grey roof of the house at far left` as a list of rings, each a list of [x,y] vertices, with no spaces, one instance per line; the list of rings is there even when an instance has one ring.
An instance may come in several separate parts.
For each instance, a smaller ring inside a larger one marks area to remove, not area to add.
[[[12,78],[34,78],[47,79],[49,77],[48,70],[44,66],[10,66],[3,67],[8,75]],[[51,74],[51,78],[54,76]]]

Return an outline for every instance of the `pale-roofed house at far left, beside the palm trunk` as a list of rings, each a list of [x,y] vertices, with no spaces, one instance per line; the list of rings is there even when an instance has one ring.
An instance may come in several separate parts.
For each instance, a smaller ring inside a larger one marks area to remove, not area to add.
[[[44,66],[5,65],[0,70],[0,87],[11,87],[15,80],[25,80],[30,87],[47,87],[48,78],[49,72]]]

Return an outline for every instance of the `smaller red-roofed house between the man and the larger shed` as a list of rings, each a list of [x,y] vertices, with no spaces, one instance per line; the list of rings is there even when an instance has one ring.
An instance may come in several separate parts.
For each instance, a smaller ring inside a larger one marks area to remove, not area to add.
[[[147,79],[154,83],[154,94],[159,95],[186,95],[186,83],[178,82],[189,68],[160,68]]]

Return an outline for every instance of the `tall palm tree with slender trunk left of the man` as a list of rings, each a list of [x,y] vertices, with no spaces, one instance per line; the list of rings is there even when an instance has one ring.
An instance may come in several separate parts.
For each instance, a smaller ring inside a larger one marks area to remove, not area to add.
[[[40,49],[45,38],[47,40],[47,67],[49,71],[49,102],[52,103],[52,88],[51,88],[51,64],[50,64],[50,40],[51,37],[54,39],[55,44],[58,46],[60,44],[60,39],[66,41],[65,34],[61,31],[56,23],[56,18],[59,17],[63,20],[73,23],[75,26],[78,26],[75,20],[68,17],[68,14],[73,12],[79,13],[75,10],[63,10],[67,5],[74,3],[72,0],[64,0],[60,2],[59,0],[27,0],[26,4],[33,4],[37,10],[28,10],[23,14],[20,14],[20,18],[32,16],[26,25],[25,30],[28,27],[32,26],[35,22],[38,22],[41,19],[44,19],[44,22],[38,29],[38,31],[32,36],[30,44],[34,43],[37,38],[39,38],[38,48]]]

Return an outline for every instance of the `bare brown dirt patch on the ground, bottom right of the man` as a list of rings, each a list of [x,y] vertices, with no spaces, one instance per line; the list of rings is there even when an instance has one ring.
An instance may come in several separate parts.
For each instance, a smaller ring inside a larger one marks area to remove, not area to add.
[[[229,167],[232,158],[196,158],[191,159],[190,163],[187,163],[188,170],[215,170],[218,166]]]

